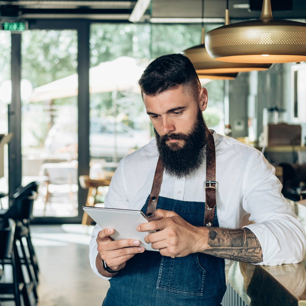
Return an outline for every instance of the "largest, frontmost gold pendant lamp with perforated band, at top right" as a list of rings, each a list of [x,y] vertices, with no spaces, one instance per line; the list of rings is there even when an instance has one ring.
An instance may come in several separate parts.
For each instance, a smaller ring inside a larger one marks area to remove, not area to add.
[[[221,62],[289,63],[306,61],[306,23],[274,20],[263,0],[257,20],[224,25],[207,32],[208,54]]]

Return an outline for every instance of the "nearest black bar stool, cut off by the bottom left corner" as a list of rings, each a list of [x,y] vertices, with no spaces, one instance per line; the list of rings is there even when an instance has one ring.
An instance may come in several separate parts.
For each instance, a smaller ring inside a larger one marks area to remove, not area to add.
[[[13,268],[13,282],[0,283],[0,301],[14,300],[16,306],[21,306],[20,296],[22,296],[24,306],[30,306],[31,304],[15,243],[15,222],[13,219],[0,218],[0,246],[0,264],[3,268],[1,270],[2,274],[4,274],[3,271],[6,264],[11,265]],[[8,297],[9,295],[13,297]]]

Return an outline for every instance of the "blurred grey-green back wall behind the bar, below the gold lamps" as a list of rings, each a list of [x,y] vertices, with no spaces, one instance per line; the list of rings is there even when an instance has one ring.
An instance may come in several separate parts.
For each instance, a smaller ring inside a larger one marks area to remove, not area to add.
[[[293,63],[274,64],[266,71],[241,73],[235,80],[229,81],[229,123],[233,137],[249,136],[256,140],[263,132],[263,110],[277,107],[278,123],[292,123],[291,66]],[[270,113],[272,120],[272,112]],[[237,129],[241,121],[240,129]],[[235,124],[236,123],[236,124]],[[248,124],[252,125],[248,129]],[[302,127],[302,144],[306,140],[306,123]]]

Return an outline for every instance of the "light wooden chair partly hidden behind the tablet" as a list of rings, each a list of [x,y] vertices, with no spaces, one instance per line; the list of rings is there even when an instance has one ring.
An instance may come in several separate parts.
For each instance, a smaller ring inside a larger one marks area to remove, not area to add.
[[[95,197],[98,194],[98,187],[109,186],[110,180],[91,179],[89,175],[79,176],[80,185],[83,189],[88,189],[85,206],[95,206]],[[90,225],[92,219],[86,212],[83,213],[82,224]]]

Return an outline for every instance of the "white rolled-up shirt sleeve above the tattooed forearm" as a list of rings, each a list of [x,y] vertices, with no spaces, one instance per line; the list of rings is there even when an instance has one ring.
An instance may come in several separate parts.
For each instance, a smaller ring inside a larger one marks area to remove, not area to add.
[[[256,151],[250,157],[243,180],[243,209],[255,222],[244,227],[258,238],[263,251],[260,265],[299,263],[305,253],[305,231],[284,196],[275,169]]]

